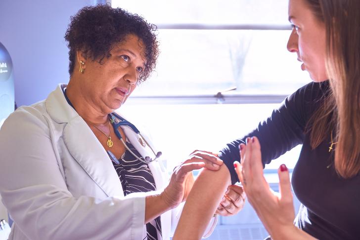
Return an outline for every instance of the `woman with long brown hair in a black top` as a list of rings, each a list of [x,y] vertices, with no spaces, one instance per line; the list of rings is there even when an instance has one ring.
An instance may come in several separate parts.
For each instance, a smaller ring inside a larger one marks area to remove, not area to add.
[[[254,131],[227,144],[219,155],[226,167],[202,171],[174,240],[200,239],[226,186],[239,180],[273,239],[359,239],[359,9],[359,0],[289,0],[293,29],[287,48],[314,82],[288,96]],[[287,167],[278,171],[279,195],[269,190],[262,168],[299,144],[291,181],[302,205],[295,217]]]

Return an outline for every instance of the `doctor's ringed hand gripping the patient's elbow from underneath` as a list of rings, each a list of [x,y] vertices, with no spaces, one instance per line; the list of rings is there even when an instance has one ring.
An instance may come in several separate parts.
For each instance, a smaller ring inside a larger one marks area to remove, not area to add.
[[[244,207],[245,199],[246,194],[241,186],[230,185],[215,213],[222,216],[235,215]]]

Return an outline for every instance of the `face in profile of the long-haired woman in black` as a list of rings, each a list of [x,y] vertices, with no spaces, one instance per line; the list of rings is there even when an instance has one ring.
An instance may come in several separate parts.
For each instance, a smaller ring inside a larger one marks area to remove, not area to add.
[[[308,71],[316,82],[327,80],[325,25],[312,12],[307,0],[289,0],[289,21],[293,25],[287,49],[303,62],[301,69]]]

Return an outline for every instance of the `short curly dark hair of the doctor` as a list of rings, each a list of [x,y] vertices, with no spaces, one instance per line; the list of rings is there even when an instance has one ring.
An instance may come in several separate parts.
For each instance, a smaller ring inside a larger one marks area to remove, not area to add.
[[[110,4],[87,6],[72,16],[66,30],[65,40],[69,47],[69,74],[72,75],[76,62],[76,51],[81,49],[92,60],[102,60],[111,56],[116,42],[121,42],[128,34],[136,35],[144,44],[145,68],[140,81],[146,80],[154,70],[159,55],[156,26],[149,24],[141,16]]]

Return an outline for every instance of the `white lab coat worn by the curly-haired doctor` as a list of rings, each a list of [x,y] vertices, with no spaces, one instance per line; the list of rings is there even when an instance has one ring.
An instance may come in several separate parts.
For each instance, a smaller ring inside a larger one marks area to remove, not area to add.
[[[142,240],[146,194],[124,197],[111,160],[67,103],[64,86],[45,101],[19,108],[1,127],[0,194],[14,220],[9,239]],[[153,156],[132,130],[123,129],[143,157]],[[168,177],[158,161],[149,168],[162,190]],[[179,211],[161,215],[164,240],[170,239]]]

